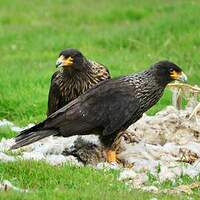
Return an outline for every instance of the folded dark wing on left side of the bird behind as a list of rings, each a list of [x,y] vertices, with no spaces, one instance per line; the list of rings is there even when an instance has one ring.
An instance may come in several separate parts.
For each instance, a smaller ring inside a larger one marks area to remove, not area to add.
[[[55,72],[51,78],[51,85],[49,89],[49,96],[48,96],[48,111],[47,116],[54,113],[56,110],[60,108],[60,100],[62,99],[59,83],[58,83],[58,75],[59,71]]]

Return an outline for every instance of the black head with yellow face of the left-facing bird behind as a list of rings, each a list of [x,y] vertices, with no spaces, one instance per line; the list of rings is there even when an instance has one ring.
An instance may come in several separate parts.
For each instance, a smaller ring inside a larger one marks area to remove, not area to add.
[[[60,52],[56,61],[56,67],[68,69],[71,67],[80,67],[84,62],[83,54],[77,49],[66,49]]]

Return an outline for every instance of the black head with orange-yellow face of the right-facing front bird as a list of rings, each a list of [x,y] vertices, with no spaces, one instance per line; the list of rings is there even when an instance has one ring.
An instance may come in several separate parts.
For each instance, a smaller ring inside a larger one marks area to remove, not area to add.
[[[160,83],[168,84],[172,81],[186,82],[187,76],[182,69],[170,61],[160,61],[152,66],[156,72],[156,78]]]

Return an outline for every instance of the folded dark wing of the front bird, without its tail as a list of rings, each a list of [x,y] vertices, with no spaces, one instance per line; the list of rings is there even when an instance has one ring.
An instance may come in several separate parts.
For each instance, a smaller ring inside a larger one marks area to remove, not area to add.
[[[57,128],[65,136],[95,128],[104,130],[103,134],[112,134],[129,121],[131,124],[138,108],[137,98],[130,93],[130,88],[111,80],[50,115],[45,126]]]

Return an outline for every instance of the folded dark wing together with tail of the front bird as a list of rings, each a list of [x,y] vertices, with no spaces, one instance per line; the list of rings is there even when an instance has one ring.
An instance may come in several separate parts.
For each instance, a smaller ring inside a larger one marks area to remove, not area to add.
[[[138,119],[139,102],[134,89],[118,80],[107,80],[71,101],[43,122],[15,138],[12,148],[36,142],[50,135],[110,135]],[[95,132],[93,132],[95,131]]]

